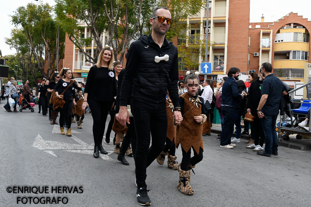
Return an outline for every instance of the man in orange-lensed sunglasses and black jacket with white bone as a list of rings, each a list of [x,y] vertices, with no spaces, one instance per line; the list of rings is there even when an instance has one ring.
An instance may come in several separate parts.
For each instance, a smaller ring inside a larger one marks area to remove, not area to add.
[[[131,110],[137,132],[136,196],[141,205],[151,204],[145,182],[146,168],[162,152],[165,145],[167,131],[166,89],[168,89],[175,107],[175,124],[180,125],[183,119],[180,113],[177,86],[178,52],[172,42],[165,38],[171,23],[172,19],[168,8],[157,7],[154,10],[150,18],[151,35],[142,35],[129,48],[126,71],[120,91],[118,117],[124,127],[126,123],[130,123],[126,105],[132,91]],[[152,144],[149,148],[150,134]]]

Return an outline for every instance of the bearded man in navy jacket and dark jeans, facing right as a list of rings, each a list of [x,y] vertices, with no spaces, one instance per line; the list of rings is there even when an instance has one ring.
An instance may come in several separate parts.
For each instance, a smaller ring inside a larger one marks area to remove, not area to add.
[[[234,130],[235,109],[239,108],[239,101],[243,99],[243,96],[239,94],[238,84],[240,69],[237,67],[231,67],[228,71],[228,78],[222,86],[222,102],[221,110],[224,114],[224,124],[221,131],[220,147],[233,148],[236,145],[231,143],[231,135]]]

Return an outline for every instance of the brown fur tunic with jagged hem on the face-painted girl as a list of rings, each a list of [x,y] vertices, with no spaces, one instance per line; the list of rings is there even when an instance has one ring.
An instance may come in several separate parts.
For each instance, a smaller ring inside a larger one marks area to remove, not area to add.
[[[192,103],[189,101],[191,96],[187,92],[180,97],[185,100],[185,103],[183,105],[183,121],[180,126],[177,126],[175,145],[178,149],[180,143],[186,152],[188,152],[192,146],[197,154],[199,154],[200,147],[203,150],[202,124],[197,123],[193,117],[201,115],[202,106],[201,104],[197,104],[199,108],[197,108],[196,105],[193,107],[193,104],[196,102]],[[191,107],[193,108],[189,111]]]

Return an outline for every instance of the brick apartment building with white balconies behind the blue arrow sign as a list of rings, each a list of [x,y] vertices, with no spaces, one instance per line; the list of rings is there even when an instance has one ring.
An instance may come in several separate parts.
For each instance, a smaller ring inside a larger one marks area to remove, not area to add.
[[[211,62],[212,73],[207,78],[217,79],[217,75],[227,74],[230,67],[238,67],[241,72],[248,70],[248,25],[249,0],[209,0],[207,7],[203,7],[197,14],[189,16],[187,24],[187,40],[176,43],[179,45],[187,41],[186,46],[196,44],[196,39],[210,40],[207,61]],[[200,34],[200,35],[197,35]],[[175,44],[175,43],[174,43]],[[205,57],[197,58],[197,68]],[[183,58],[179,58],[179,75],[184,75]],[[180,77],[182,78],[182,76]],[[202,79],[202,77],[201,77]]]

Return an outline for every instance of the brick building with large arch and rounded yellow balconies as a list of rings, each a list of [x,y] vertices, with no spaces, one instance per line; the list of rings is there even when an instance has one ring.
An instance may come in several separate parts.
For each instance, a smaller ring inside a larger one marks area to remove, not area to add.
[[[304,63],[310,63],[311,21],[289,13],[275,22],[249,23],[248,70],[270,62],[273,74],[290,86],[304,79]]]

